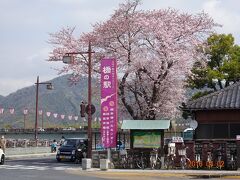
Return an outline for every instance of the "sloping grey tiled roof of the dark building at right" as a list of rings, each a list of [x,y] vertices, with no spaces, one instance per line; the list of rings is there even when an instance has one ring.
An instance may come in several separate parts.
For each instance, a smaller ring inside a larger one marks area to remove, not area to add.
[[[186,109],[240,109],[240,82],[189,101]]]

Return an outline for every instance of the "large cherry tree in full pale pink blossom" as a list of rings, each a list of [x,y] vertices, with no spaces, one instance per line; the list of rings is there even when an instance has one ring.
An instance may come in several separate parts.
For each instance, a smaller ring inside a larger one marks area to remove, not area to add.
[[[184,80],[201,59],[206,38],[217,26],[205,13],[187,14],[175,9],[138,10],[140,1],[127,1],[109,20],[96,23],[92,32],[74,38],[74,28],[51,34],[50,60],[66,52],[83,51],[91,42],[94,70],[102,57],[118,64],[120,104],[132,119],[172,118],[184,100]],[[86,72],[86,57],[61,70],[78,80]]]

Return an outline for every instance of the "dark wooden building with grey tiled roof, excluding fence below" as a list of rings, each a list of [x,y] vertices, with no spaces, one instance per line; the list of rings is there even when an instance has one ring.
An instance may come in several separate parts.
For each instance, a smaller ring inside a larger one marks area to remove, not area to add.
[[[240,82],[186,104],[198,122],[195,139],[236,139],[240,135]]]

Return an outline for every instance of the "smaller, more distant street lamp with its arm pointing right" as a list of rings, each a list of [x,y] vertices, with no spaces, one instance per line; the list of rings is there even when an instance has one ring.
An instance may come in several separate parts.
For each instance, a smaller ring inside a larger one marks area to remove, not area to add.
[[[37,77],[37,82],[35,84],[36,84],[35,141],[36,141],[36,146],[37,146],[37,140],[38,140],[38,137],[37,137],[37,134],[38,134],[38,89],[39,89],[39,85],[40,84],[46,84],[48,90],[52,90],[53,86],[52,86],[52,83],[49,83],[49,82],[39,82],[39,76]]]

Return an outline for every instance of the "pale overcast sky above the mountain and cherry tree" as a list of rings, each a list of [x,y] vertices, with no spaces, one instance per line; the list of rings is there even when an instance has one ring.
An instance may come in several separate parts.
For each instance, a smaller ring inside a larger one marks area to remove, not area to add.
[[[0,95],[57,77],[50,63],[49,33],[62,27],[77,32],[92,30],[92,24],[104,21],[125,0],[0,0]],[[183,12],[207,12],[223,25],[219,33],[232,33],[240,43],[239,0],[142,0],[141,9],[172,7]]]

